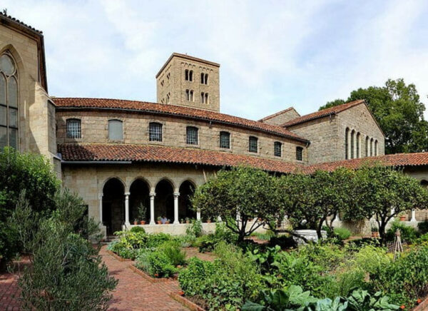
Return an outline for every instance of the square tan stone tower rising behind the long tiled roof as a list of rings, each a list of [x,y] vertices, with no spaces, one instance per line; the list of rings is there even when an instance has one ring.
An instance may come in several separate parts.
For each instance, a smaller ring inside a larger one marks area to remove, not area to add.
[[[156,75],[158,103],[220,111],[220,77],[218,63],[200,58],[173,53]],[[185,72],[192,71],[192,81],[186,80]],[[201,74],[208,75],[206,84]],[[193,99],[188,100],[186,90],[193,91]],[[205,94],[208,100],[205,101]],[[204,99],[202,99],[204,94]]]

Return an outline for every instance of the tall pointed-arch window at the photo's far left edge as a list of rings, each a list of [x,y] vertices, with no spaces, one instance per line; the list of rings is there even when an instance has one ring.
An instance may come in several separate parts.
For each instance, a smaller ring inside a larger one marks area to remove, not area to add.
[[[18,149],[18,73],[14,58],[0,56],[0,148]]]

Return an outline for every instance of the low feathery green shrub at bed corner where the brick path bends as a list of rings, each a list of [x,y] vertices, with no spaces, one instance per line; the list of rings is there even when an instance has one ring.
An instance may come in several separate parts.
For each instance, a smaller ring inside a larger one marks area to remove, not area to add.
[[[153,277],[170,277],[177,272],[170,258],[162,251],[141,253],[136,259],[136,267]]]

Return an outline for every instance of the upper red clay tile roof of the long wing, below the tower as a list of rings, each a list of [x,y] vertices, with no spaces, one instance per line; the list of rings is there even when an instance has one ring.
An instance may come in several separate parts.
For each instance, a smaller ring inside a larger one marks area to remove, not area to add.
[[[58,108],[113,108],[132,111],[145,111],[146,113],[163,114],[170,116],[181,116],[201,121],[213,121],[227,123],[241,128],[250,128],[255,131],[263,131],[277,136],[282,136],[297,141],[307,142],[305,138],[297,136],[280,126],[272,126],[245,118],[238,118],[224,113],[206,111],[203,109],[188,108],[163,103],[148,103],[145,101],[126,101],[121,99],[106,98],[52,98]]]

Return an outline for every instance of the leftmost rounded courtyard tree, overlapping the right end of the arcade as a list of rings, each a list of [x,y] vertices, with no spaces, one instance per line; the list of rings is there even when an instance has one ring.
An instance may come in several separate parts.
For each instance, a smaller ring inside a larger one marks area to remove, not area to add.
[[[220,216],[242,241],[277,213],[275,193],[275,182],[268,173],[240,167],[221,170],[217,178],[198,187],[192,203],[210,218]],[[262,221],[249,225],[258,218]]]

